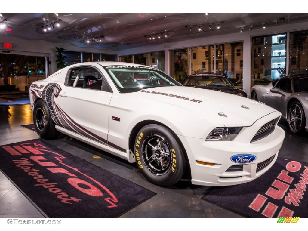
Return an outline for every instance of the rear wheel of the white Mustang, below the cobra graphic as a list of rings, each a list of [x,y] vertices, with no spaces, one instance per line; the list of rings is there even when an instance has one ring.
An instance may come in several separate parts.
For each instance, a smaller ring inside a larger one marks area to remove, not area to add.
[[[59,134],[43,100],[37,101],[34,105],[33,123],[36,132],[43,139],[53,139]]]

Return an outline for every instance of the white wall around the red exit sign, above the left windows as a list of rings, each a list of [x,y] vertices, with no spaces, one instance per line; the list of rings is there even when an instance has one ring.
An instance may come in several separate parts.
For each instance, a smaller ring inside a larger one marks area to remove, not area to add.
[[[112,54],[117,55],[118,51],[113,51],[110,49],[98,50],[92,47],[76,47],[71,43],[50,43],[43,40],[30,41],[25,39],[19,39],[11,36],[1,36],[0,43],[12,43],[15,44],[16,47],[10,50],[11,54],[16,55],[34,55],[34,56],[48,56],[49,61],[51,61],[50,65],[50,74],[57,71],[57,63],[56,63],[56,53],[57,50],[55,47],[63,47],[68,51],[85,51],[85,52],[93,52],[93,53],[104,53],[104,54]],[[0,50],[4,50],[0,47]],[[4,53],[5,54],[5,53]]]

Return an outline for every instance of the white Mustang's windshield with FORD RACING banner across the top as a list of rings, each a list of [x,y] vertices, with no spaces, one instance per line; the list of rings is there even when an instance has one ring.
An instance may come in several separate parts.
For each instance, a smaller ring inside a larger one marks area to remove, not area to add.
[[[182,86],[164,72],[143,66],[103,67],[120,93],[136,92],[151,87]]]

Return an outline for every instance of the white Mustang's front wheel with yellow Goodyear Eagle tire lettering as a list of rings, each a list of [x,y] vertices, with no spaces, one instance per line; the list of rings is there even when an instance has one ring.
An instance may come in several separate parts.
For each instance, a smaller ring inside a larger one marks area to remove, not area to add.
[[[135,140],[136,163],[144,177],[160,186],[177,183],[183,176],[185,158],[178,138],[164,126],[144,126]]]

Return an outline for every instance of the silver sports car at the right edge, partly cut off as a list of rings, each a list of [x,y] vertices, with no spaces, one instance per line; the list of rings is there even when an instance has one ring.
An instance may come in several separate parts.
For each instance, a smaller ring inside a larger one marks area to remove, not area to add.
[[[280,111],[292,132],[308,131],[308,74],[284,76],[268,85],[255,85],[251,99]]]

